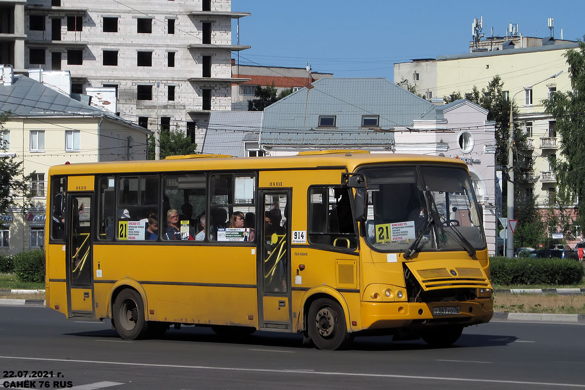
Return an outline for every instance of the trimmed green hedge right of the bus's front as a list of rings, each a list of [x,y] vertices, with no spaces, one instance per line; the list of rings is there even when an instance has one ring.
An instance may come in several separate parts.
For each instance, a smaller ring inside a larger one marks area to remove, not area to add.
[[[490,257],[491,282],[500,285],[567,285],[583,280],[583,264],[563,258]]]

